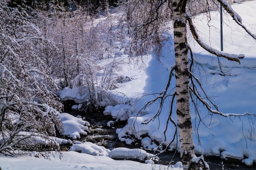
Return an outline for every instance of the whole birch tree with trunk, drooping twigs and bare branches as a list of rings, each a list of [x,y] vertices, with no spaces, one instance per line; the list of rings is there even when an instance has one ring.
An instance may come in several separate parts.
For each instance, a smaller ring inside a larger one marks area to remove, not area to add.
[[[245,31],[249,35],[251,35],[254,39],[256,39],[255,35],[253,35],[249,30],[245,28],[242,24],[239,15],[234,12],[231,6],[225,0],[217,0],[224,9],[231,15],[231,17],[236,21],[237,24],[242,26]],[[173,93],[176,97],[177,102],[177,118],[178,123],[177,126],[179,128],[179,136],[180,136],[180,157],[183,163],[184,170],[198,170],[209,169],[209,166],[204,161],[204,158],[198,157],[197,159],[194,152],[194,144],[193,144],[193,136],[192,136],[192,124],[191,124],[191,115],[190,115],[190,94],[197,97],[207,107],[207,109],[211,113],[219,114],[222,116],[242,116],[249,115],[249,113],[245,114],[224,114],[218,110],[218,107],[214,105],[211,108],[208,101],[206,101],[199,94],[197,88],[195,88],[194,82],[198,82],[200,84],[199,79],[197,79],[191,70],[193,64],[193,55],[192,51],[187,42],[187,35],[189,31],[187,30],[187,24],[189,24],[190,32],[193,35],[193,38],[202,46],[205,50],[210,53],[218,56],[225,57],[227,60],[240,62],[239,59],[242,59],[244,55],[227,55],[218,51],[216,49],[212,49],[210,46],[205,44],[199,37],[197,30],[193,23],[192,14],[196,14],[195,8],[199,6],[198,3],[205,3],[205,9],[200,8],[201,11],[209,11],[209,2],[216,3],[215,1],[193,1],[193,0],[143,0],[139,4],[134,0],[128,0],[124,2],[126,5],[126,23],[128,25],[128,33],[131,36],[131,42],[129,49],[131,55],[145,55],[148,53],[148,50],[154,50],[157,53],[157,56],[161,56],[161,48],[162,48],[162,40],[164,37],[161,33],[166,29],[166,24],[168,22],[173,23],[173,31],[174,31],[174,45],[175,45],[175,66],[171,68],[171,74],[166,86],[166,89],[162,91],[155,99],[148,102],[146,105],[150,105],[152,102],[160,100],[160,107],[155,117],[160,114],[161,107],[164,99],[166,98],[167,90],[170,85],[171,77],[173,72],[175,71],[176,78],[176,91]],[[170,17],[171,15],[171,17]],[[166,18],[166,16],[170,18]],[[188,51],[191,52],[191,66],[189,67],[189,56]],[[199,88],[202,88],[200,86]],[[146,107],[146,106],[145,106]],[[153,120],[153,117],[151,120]],[[169,119],[171,118],[171,113],[169,115]],[[173,120],[171,120],[173,122]],[[173,122],[175,124],[175,122]],[[175,124],[176,126],[176,124]]]

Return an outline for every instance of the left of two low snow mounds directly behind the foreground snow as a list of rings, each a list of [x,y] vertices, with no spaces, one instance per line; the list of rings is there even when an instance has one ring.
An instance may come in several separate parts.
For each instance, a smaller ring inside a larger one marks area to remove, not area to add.
[[[103,146],[98,146],[92,142],[85,142],[83,144],[75,144],[70,147],[69,151],[81,151],[81,153],[86,153],[93,156],[107,156],[110,152],[109,149]]]

